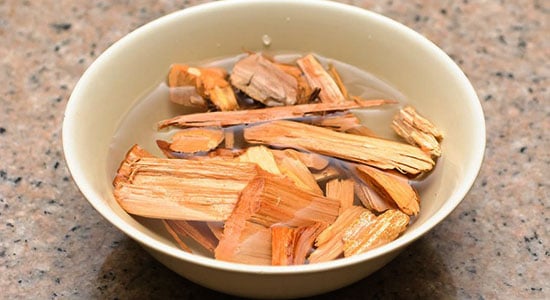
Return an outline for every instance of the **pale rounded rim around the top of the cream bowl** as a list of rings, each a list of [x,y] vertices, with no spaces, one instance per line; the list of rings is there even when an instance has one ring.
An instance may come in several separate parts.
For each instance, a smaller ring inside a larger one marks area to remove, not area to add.
[[[391,243],[388,243],[384,246],[378,247],[376,249],[367,251],[366,253],[343,258],[336,259],[328,262],[307,264],[307,265],[296,265],[296,266],[263,266],[263,265],[247,265],[241,263],[233,263],[215,260],[209,257],[203,257],[200,255],[187,253],[183,250],[176,248],[175,246],[169,246],[162,244],[156,241],[154,238],[148,236],[147,234],[139,231],[138,229],[130,226],[126,221],[116,215],[107,205],[103,205],[101,195],[93,191],[93,188],[89,183],[86,182],[86,175],[82,170],[78,168],[78,161],[76,161],[73,156],[73,145],[71,135],[73,134],[71,128],[73,124],[77,122],[75,117],[75,112],[78,110],[78,98],[82,93],[83,86],[85,82],[93,75],[93,73],[106,61],[108,56],[115,51],[119,45],[127,43],[129,40],[134,39],[140,35],[146,34],[149,31],[155,30],[155,28],[172,22],[179,18],[185,18],[187,15],[195,14],[198,12],[208,11],[213,8],[223,8],[225,6],[234,6],[234,5],[258,5],[258,4],[278,4],[278,5],[320,5],[325,6],[327,9],[339,10],[340,12],[349,13],[349,14],[358,14],[363,17],[371,19],[373,22],[380,22],[384,26],[391,27],[394,30],[400,31],[411,38],[413,38],[417,43],[419,43],[423,48],[431,51],[432,54],[439,60],[442,60],[447,67],[450,68],[450,71],[454,73],[456,78],[460,81],[460,85],[467,91],[468,98],[471,100],[471,105],[473,108],[472,114],[474,120],[479,123],[479,130],[477,135],[472,137],[472,140],[476,141],[473,143],[478,145],[479,151],[475,151],[475,154],[472,157],[472,168],[467,170],[464,175],[464,180],[459,183],[456,188],[456,192],[453,193],[447,201],[434,213],[434,215],[427,219],[423,224],[416,227],[414,230],[409,231],[406,235],[401,236],[400,238],[394,240]],[[343,3],[331,2],[331,1],[317,1],[317,0],[231,0],[231,1],[221,1],[221,2],[209,2],[193,7],[181,9],[167,15],[164,15],[160,18],[157,18],[137,29],[130,32],[129,34],[122,37],[117,42],[113,43],[109,48],[107,48],[84,72],[79,81],[77,82],[71,97],[67,103],[63,125],[62,125],[62,143],[63,143],[63,153],[64,158],[69,169],[69,172],[73,178],[73,181],[76,183],[77,187],[87,199],[87,201],[98,211],[105,219],[107,219],[111,224],[117,227],[119,230],[124,232],[126,235],[134,239],[135,241],[145,245],[151,249],[154,249],[160,253],[169,255],[173,258],[177,258],[188,263],[193,263],[201,265],[208,268],[232,271],[232,272],[245,272],[245,273],[255,273],[255,274],[289,274],[289,273],[310,273],[310,272],[319,272],[326,271],[337,268],[344,268],[350,265],[357,263],[365,262],[371,259],[374,259],[385,254],[392,253],[401,248],[404,248],[408,244],[420,238],[422,235],[430,231],[433,227],[443,221],[464,199],[468,191],[471,189],[482,165],[485,146],[486,146],[486,129],[485,129],[485,120],[483,115],[483,110],[481,103],[477,94],[460,67],[439,47],[437,47],[433,42],[428,40],[426,37],[420,33],[414,31],[413,29],[390,19],[389,17],[383,16],[381,14],[363,9],[357,6],[352,6]]]

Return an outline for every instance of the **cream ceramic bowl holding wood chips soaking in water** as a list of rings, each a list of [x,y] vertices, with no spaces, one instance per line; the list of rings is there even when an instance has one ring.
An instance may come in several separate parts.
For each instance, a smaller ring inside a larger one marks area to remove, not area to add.
[[[262,50],[264,35],[271,38],[270,51],[312,51],[367,70],[402,92],[444,131],[443,157],[421,192],[421,213],[396,241],[326,263],[242,265],[181,251],[154,222],[136,219],[117,205],[111,181],[122,156],[111,156],[126,151],[139,132],[123,137],[125,149],[113,152],[110,147],[129,109],[165,78],[170,64]],[[224,1],[162,17],[105,51],[71,95],[63,147],[73,179],[90,204],[168,268],[234,295],[299,297],[369,275],[441,222],[479,171],[485,124],[476,93],[459,67],[426,38],[395,21],[325,1]]]

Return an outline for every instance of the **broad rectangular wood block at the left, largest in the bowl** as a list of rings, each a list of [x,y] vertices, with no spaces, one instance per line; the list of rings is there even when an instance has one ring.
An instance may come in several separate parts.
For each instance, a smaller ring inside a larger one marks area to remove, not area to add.
[[[135,147],[134,147],[135,148]],[[119,168],[114,196],[128,213],[172,220],[226,220],[256,164],[136,157]]]

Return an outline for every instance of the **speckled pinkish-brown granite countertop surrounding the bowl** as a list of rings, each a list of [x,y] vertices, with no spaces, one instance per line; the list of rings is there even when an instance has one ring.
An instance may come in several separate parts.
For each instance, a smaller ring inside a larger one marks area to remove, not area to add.
[[[200,1],[0,2],[0,298],[227,299],[156,262],[80,195],[63,111],[119,38]],[[386,267],[318,299],[550,298],[550,2],[344,1],[445,50],[487,122],[460,206]]]

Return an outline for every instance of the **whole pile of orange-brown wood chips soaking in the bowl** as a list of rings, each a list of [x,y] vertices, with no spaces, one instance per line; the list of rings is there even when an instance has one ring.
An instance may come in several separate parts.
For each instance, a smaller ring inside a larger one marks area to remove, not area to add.
[[[419,213],[409,181],[432,170],[442,134],[406,106],[392,123],[406,143],[377,137],[350,110],[396,101],[350,96],[312,54],[289,65],[249,53],[230,75],[173,65],[168,84],[172,101],[208,111],[159,122],[181,128],[157,141],[166,157],[134,145],[113,185],[125,211],[162,219],[182,249],[324,262],[396,239]]]

